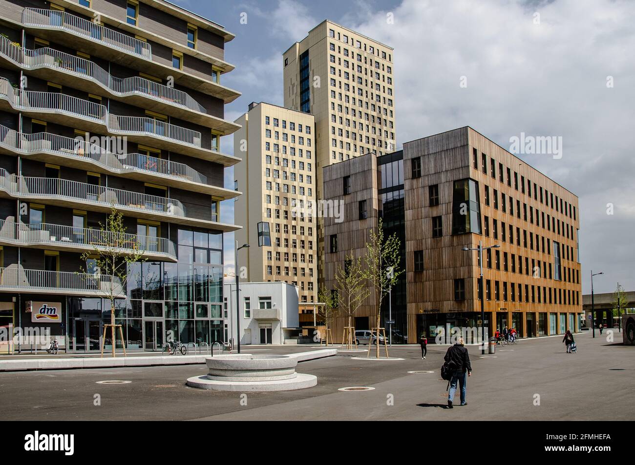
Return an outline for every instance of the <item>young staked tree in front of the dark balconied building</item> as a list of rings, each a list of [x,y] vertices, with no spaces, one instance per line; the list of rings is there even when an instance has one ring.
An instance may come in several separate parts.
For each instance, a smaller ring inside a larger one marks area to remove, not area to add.
[[[126,281],[128,281],[128,269],[131,264],[142,260],[144,254],[144,244],[133,234],[126,233],[123,224],[123,214],[114,205],[110,208],[110,213],[106,224],[99,223],[98,230],[87,231],[86,243],[93,248],[91,252],[84,252],[81,255],[83,262],[93,260],[93,269],[90,270],[95,276],[96,291],[105,295],[110,300],[110,329],[112,330],[112,356],[115,356],[115,302],[117,297],[121,297],[126,292]],[[88,273],[88,271],[86,271]],[[125,342],[122,340],[122,344]],[[102,342],[102,352],[105,340]]]

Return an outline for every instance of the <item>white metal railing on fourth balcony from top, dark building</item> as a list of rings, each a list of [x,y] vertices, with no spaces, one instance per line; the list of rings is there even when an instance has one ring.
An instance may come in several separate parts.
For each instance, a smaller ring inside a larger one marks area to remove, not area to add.
[[[60,156],[89,159],[114,173],[144,172],[207,184],[207,177],[184,163],[140,153],[116,155],[98,144],[48,132],[25,134],[0,125],[0,145],[21,154],[56,153]]]

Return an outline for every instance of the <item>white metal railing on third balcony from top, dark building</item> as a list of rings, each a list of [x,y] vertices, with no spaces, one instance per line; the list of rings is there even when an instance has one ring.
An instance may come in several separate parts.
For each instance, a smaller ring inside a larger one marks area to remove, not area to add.
[[[58,92],[40,92],[12,89],[8,79],[0,77],[0,95],[6,96],[11,106],[18,110],[59,111],[89,118],[107,126],[111,133],[142,133],[172,140],[180,144],[201,147],[201,133],[182,126],[172,125],[143,116],[118,116],[109,114],[102,104]]]

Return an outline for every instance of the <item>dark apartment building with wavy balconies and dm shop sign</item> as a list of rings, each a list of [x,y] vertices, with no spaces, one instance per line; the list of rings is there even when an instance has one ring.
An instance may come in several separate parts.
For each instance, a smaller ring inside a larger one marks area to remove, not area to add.
[[[100,349],[112,311],[128,349],[226,340],[234,36],[163,0],[0,0],[0,27],[0,325],[49,328],[77,352]],[[107,246],[111,208],[120,248],[143,252],[115,309],[110,278],[81,260]]]

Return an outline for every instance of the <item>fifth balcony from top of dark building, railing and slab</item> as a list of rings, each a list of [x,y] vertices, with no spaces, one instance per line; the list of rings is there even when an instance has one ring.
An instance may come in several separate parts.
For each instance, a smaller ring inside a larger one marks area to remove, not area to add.
[[[0,169],[0,191],[11,198],[37,199],[46,205],[84,209],[90,206],[96,212],[105,213],[114,207],[137,218],[208,227],[223,232],[239,229],[231,224],[187,217],[185,206],[177,199],[67,179],[22,177]]]

